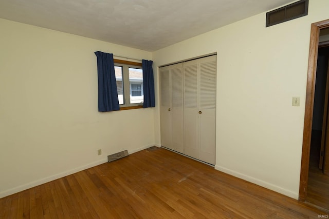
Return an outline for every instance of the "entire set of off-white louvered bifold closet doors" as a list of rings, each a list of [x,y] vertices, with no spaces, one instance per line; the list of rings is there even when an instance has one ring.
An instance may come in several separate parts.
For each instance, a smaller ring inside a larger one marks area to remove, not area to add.
[[[216,55],[159,70],[161,145],[215,164]]]

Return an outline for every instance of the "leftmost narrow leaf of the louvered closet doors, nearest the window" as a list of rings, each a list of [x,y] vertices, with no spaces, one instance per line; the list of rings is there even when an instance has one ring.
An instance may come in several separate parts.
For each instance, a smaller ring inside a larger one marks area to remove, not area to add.
[[[171,148],[171,78],[169,74],[169,66],[159,68],[160,74],[160,129],[161,129],[161,145]]]

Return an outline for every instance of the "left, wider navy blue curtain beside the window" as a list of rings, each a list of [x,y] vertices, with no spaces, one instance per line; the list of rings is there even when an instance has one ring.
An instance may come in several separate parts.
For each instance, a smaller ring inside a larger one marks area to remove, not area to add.
[[[120,110],[113,54],[97,51],[98,111]]]

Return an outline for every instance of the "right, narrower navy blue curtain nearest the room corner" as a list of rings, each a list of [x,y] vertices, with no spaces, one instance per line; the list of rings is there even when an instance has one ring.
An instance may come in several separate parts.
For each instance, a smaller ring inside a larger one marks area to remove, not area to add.
[[[152,64],[153,61],[148,61],[144,59],[142,60],[144,108],[155,107],[154,76],[153,76]]]

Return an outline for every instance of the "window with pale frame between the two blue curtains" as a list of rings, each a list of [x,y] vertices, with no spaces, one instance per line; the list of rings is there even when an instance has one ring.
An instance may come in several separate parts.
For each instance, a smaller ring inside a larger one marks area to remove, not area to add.
[[[114,65],[120,108],[142,105],[144,100],[142,67],[116,62]]]

